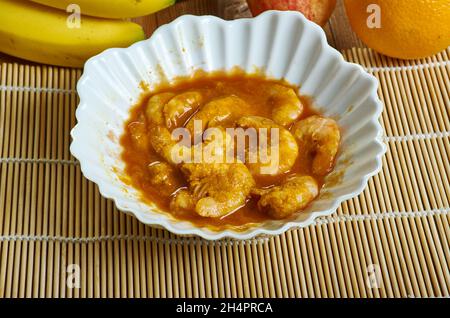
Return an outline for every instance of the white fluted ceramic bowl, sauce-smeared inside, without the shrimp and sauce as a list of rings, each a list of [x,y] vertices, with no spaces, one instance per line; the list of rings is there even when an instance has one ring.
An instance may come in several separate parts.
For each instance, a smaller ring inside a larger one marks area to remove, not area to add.
[[[268,221],[242,231],[214,231],[172,218],[143,203],[124,184],[122,147],[129,110],[141,93],[162,80],[240,67],[263,70],[268,76],[299,85],[313,97],[319,111],[335,118],[343,129],[341,153],[321,196],[305,211],[285,220]],[[84,176],[118,209],[141,222],[205,239],[248,239],[304,227],[332,214],[344,200],[360,194],[381,169],[385,145],[378,118],[383,106],[376,79],[359,65],[347,63],[327,44],[323,30],[300,13],[270,11],[257,18],[224,21],[213,16],[182,16],[160,27],[150,39],[126,49],[109,49],[90,59],[78,83],[78,124],[70,150]],[[339,182],[335,182],[340,179]]]

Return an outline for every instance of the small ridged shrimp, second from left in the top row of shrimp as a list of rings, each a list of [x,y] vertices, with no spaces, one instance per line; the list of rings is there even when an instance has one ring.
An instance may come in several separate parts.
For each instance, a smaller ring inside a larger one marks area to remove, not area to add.
[[[182,120],[195,112],[203,100],[199,92],[186,92],[173,97],[164,105],[163,113],[167,128],[179,127]]]

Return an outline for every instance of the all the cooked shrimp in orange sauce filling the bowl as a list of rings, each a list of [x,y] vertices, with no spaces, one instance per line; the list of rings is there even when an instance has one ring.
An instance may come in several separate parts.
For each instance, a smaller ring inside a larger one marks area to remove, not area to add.
[[[132,108],[120,141],[123,180],[173,218],[244,229],[308,208],[340,137],[298,87],[240,71],[198,73],[144,92]]]

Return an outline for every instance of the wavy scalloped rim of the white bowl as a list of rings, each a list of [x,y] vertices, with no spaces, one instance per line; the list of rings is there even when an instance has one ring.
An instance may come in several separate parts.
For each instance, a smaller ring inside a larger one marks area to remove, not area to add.
[[[219,23],[219,24],[232,24],[232,23],[244,23],[245,21],[251,21],[252,20],[257,20],[257,19],[262,19],[268,15],[275,15],[275,14],[290,14],[290,15],[296,15],[297,17],[300,18],[300,20],[302,21],[302,23],[304,24],[309,24],[309,28],[311,30],[314,30],[314,32],[318,32],[320,35],[320,44],[322,46],[322,49],[327,51],[327,54],[329,55],[334,55],[335,57],[338,57],[339,62],[338,63],[343,63],[346,65],[347,68],[353,68],[354,70],[358,70],[358,76],[362,76],[364,78],[366,78],[367,80],[372,82],[371,88],[372,91],[370,93],[370,98],[373,99],[373,101],[375,102],[375,104],[377,105],[377,108],[374,112],[374,115],[372,116],[371,121],[375,124],[376,128],[377,128],[377,135],[376,138],[374,140],[372,140],[373,142],[375,142],[375,145],[380,147],[380,151],[376,154],[376,168],[373,169],[372,171],[370,171],[369,173],[366,173],[365,175],[361,176],[361,180],[360,183],[358,184],[358,186],[356,187],[356,189],[352,192],[340,195],[338,197],[333,197],[332,198],[332,204],[331,204],[331,208],[323,210],[323,211],[312,211],[309,215],[309,217],[305,220],[302,221],[288,221],[285,222],[284,224],[282,224],[280,227],[276,228],[276,229],[267,229],[262,227],[263,225],[260,224],[259,227],[250,227],[248,229],[246,229],[245,232],[239,232],[239,231],[234,231],[234,230],[230,230],[230,229],[224,229],[221,231],[205,231],[202,228],[198,228],[195,225],[192,224],[192,226],[190,228],[187,229],[181,229],[181,228],[176,228],[173,227],[172,224],[170,224],[169,219],[167,216],[161,214],[160,218],[154,218],[152,220],[148,220],[142,217],[141,213],[136,213],[135,211],[133,211],[132,209],[129,209],[127,207],[125,207],[125,205],[123,204],[123,201],[121,200],[121,198],[115,197],[113,194],[111,194],[108,191],[109,185],[104,183],[102,180],[96,178],[95,175],[92,175],[88,172],[88,166],[89,166],[89,161],[83,161],[80,159],[80,155],[75,151],[74,149],[74,144],[76,144],[78,142],[76,136],[77,136],[77,130],[80,129],[80,124],[79,124],[79,118],[80,118],[80,112],[82,111],[82,109],[84,108],[84,106],[87,105],[87,101],[85,100],[84,96],[83,96],[83,88],[84,88],[84,82],[87,78],[89,78],[89,68],[91,66],[92,63],[95,63],[96,60],[110,55],[110,54],[114,54],[115,52],[118,51],[130,51],[133,50],[134,48],[144,45],[146,42],[152,41],[153,38],[157,37],[158,34],[163,32],[163,29],[170,27],[171,25],[176,25],[177,23],[179,23],[180,21],[186,20],[186,19],[201,19],[201,20],[212,20],[214,23]],[[99,192],[100,194],[107,198],[110,199],[114,202],[114,204],[116,205],[116,207],[125,213],[131,214],[134,217],[136,217],[140,222],[147,224],[147,225],[151,225],[151,226],[161,226],[167,230],[169,230],[172,233],[178,234],[178,235],[196,235],[199,237],[202,237],[204,239],[207,240],[219,240],[219,239],[224,239],[224,238],[231,238],[231,239],[238,239],[238,240],[245,240],[245,239],[250,239],[253,238],[255,236],[259,236],[259,235],[279,235],[282,234],[284,232],[286,232],[289,229],[292,228],[299,228],[299,227],[306,227],[311,225],[314,220],[318,217],[322,217],[322,216],[329,216],[332,213],[334,213],[337,208],[339,207],[339,205],[346,201],[349,200],[351,198],[354,198],[356,196],[358,196],[359,194],[361,194],[364,189],[366,188],[369,179],[378,174],[381,171],[382,168],[382,157],[384,156],[385,152],[386,152],[386,145],[382,140],[382,136],[383,136],[383,129],[381,127],[381,124],[379,122],[379,117],[381,116],[381,113],[383,111],[383,104],[381,102],[381,100],[379,99],[378,95],[377,95],[377,87],[378,87],[378,81],[376,80],[376,78],[372,75],[370,75],[369,73],[365,72],[364,69],[362,68],[361,65],[355,64],[355,63],[351,63],[351,62],[347,62],[343,59],[342,55],[333,47],[331,47],[326,40],[326,36],[325,33],[323,32],[322,28],[320,28],[318,25],[316,25],[315,23],[310,22],[309,20],[307,20],[302,14],[297,13],[297,12],[280,12],[280,11],[267,11],[255,18],[245,18],[245,19],[239,19],[239,20],[232,20],[232,21],[226,21],[226,20],[222,20],[216,16],[210,16],[210,15],[204,15],[204,16],[193,16],[193,15],[183,15],[177,19],[175,19],[174,21],[172,21],[171,23],[165,24],[160,26],[154,33],[153,35],[143,41],[139,41],[137,43],[134,43],[133,45],[127,47],[127,48],[110,48],[107,49],[105,51],[103,51],[102,53],[90,58],[86,63],[85,63],[85,67],[84,67],[84,72],[83,75],[80,77],[78,83],[77,83],[77,92],[79,94],[79,98],[80,98],[80,102],[78,104],[75,116],[77,119],[77,124],[74,126],[74,128],[71,131],[71,137],[72,137],[72,143],[70,146],[70,151],[72,153],[72,155],[77,158],[79,160],[80,163],[80,168],[81,168],[81,172],[84,175],[84,177],[92,182],[94,182],[95,184],[98,185],[99,188]]]

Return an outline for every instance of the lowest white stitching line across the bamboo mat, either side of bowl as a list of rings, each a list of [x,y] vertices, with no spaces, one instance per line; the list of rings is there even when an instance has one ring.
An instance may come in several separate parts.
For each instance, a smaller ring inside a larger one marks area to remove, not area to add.
[[[315,225],[327,225],[339,222],[362,222],[362,221],[376,221],[392,218],[416,218],[435,215],[448,215],[450,207],[436,210],[412,211],[412,212],[384,212],[381,214],[365,214],[365,215],[335,215],[328,217],[321,217],[314,220]],[[144,241],[162,244],[198,244],[207,246],[233,246],[233,245],[252,245],[261,244],[269,241],[269,237],[250,239],[245,241],[239,240],[219,240],[207,241],[199,238],[180,238],[170,239],[155,236],[139,236],[139,235],[105,235],[97,237],[63,237],[63,236],[49,236],[49,235],[2,235],[0,242],[10,241],[33,241],[33,242],[59,242],[59,243],[94,243],[105,241]]]

